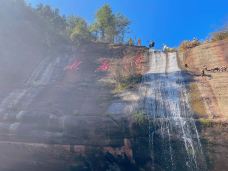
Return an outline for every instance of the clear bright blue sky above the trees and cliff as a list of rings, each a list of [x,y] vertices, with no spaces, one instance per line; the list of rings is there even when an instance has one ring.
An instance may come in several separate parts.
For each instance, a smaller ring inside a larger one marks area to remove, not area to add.
[[[98,8],[108,3],[114,12],[131,20],[130,35],[178,46],[182,40],[207,36],[228,23],[228,0],[27,0],[32,5],[49,4],[64,15],[78,15],[91,23]]]

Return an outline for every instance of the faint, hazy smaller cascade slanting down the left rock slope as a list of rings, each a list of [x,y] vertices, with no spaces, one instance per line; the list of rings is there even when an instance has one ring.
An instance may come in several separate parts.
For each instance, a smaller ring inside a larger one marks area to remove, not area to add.
[[[63,77],[64,67],[71,61],[69,57],[46,57],[35,68],[23,87],[12,91],[0,102],[0,119],[5,123],[4,128],[10,135],[14,135],[20,126],[20,117],[28,112],[28,107],[34,98],[44,89],[45,86],[53,84],[57,79]],[[4,132],[5,133],[5,132]],[[4,134],[5,135],[5,134]],[[36,136],[36,135],[35,135]]]

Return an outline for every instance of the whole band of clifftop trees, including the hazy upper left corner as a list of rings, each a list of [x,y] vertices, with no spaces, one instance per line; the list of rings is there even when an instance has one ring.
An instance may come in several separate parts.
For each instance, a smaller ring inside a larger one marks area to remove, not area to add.
[[[81,17],[62,16],[59,9],[49,5],[32,7],[25,0],[1,0],[0,6],[0,29],[4,30],[0,30],[2,37],[7,35],[5,32],[18,41],[26,36],[28,39],[36,36],[35,41],[48,49],[92,40],[121,42],[130,23],[121,14],[113,14],[109,5],[104,5],[97,11],[96,22],[91,25]],[[16,35],[18,32],[23,34]]]

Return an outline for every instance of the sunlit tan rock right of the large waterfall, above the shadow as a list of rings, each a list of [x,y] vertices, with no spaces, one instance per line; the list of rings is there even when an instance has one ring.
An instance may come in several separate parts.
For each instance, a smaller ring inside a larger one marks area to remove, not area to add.
[[[207,114],[213,118],[228,118],[228,40],[206,43],[179,54],[182,67],[205,77],[195,77]],[[211,71],[209,71],[211,70]]]

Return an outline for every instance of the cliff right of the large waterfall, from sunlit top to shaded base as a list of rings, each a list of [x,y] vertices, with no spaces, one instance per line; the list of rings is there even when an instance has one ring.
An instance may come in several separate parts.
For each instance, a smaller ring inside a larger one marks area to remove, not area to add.
[[[194,94],[192,101],[204,108],[204,115],[196,112],[196,117],[201,118],[197,127],[208,170],[225,171],[228,169],[228,71],[220,68],[228,66],[228,40],[203,44],[181,52],[179,60],[182,68],[187,64],[185,70],[194,76],[195,82],[192,84],[198,91],[195,88],[191,90],[190,95]],[[200,76],[202,69],[205,70],[204,77]],[[197,105],[192,107],[194,109]]]

